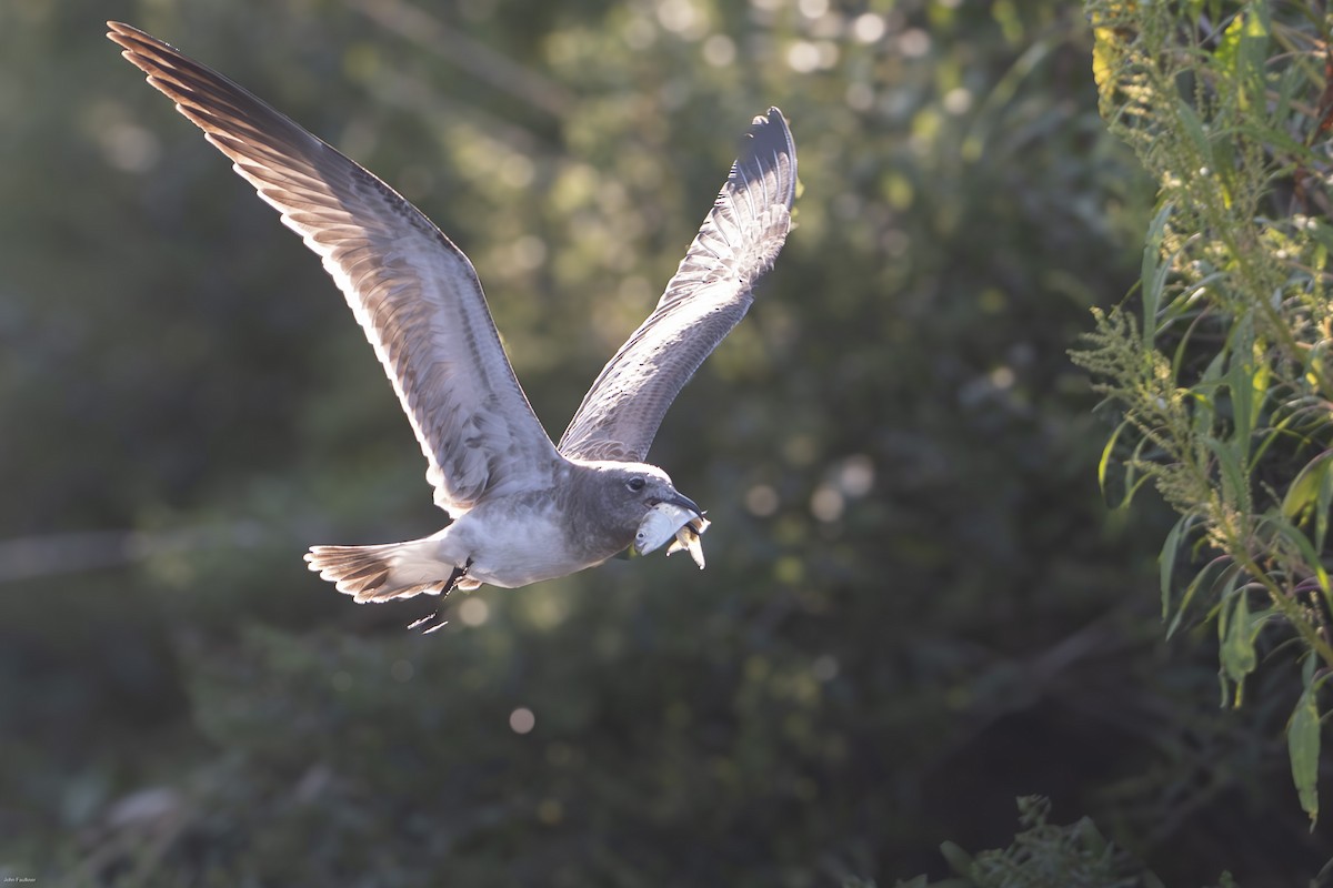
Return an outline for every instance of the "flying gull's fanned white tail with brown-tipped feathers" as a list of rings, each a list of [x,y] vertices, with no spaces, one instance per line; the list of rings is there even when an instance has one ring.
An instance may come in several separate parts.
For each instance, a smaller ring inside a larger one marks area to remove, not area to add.
[[[440,595],[456,584],[480,586],[464,579],[467,567],[441,562],[439,541],[413,539],[383,546],[312,546],[305,554],[311,570],[357,603],[388,602],[413,595]]]

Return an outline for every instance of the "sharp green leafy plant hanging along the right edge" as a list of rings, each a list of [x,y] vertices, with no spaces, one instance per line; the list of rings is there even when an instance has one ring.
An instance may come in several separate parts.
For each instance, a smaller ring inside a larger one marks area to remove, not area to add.
[[[1241,704],[1269,626],[1301,646],[1288,743],[1313,823],[1333,674],[1329,21],[1261,1],[1085,9],[1102,117],[1158,182],[1137,298],[1073,353],[1118,421],[1102,486],[1122,482],[1128,506],[1152,481],[1180,514],[1162,618],[1216,623],[1224,704]],[[1185,560],[1206,563],[1178,591]]]

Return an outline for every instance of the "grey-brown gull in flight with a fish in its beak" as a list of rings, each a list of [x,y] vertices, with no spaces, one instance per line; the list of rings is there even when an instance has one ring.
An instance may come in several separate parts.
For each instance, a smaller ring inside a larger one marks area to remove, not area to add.
[[[552,443],[505,357],[472,262],[417,208],[289,117],[173,47],[107,23],[148,83],[204,130],[347,297],[425,454],[451,522],[401,543],[315,546],[357,602],[513,588],[651,551],[674,533],[702,566],[706,522],[645,461],[666,409],[753,301],[790,228],[796,145],[777,108],[740,157],[657,308]]]

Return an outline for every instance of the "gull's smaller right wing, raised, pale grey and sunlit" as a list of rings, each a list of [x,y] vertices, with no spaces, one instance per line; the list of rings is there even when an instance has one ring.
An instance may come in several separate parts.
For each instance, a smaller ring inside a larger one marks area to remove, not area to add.
[[[754,297],[792,221],[796,145],[782,112],[756,117],[657,308],[601,370],[560,439],[583,459],[641,462],[666,407]]]

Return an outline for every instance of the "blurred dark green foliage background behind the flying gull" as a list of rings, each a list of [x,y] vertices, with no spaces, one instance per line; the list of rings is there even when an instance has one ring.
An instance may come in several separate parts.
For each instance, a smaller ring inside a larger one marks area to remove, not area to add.
[[[424,465],[319,264],[107,17],[416,201],[555,434],[781,107],[798,228],[652,454],[708,570],[481,590],[429,638],[304,571],[435,530]],[[1218,710],[1216,634],[1160,640],[1170,519],[1097,491],[1065,350],[1152,190],[1090,55],[1054,0],[0,7],[4,875],[892,884],[1041,845],[1041,793],[1170,884],[1310,879],[1298,688]]]

